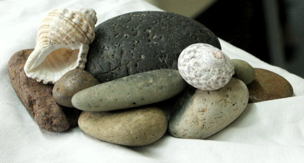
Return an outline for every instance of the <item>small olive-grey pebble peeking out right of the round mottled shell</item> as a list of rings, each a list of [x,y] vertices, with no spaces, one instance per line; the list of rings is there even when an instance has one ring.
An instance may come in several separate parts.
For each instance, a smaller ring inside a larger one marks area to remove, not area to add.
[[[233,77],[242,80],[246,85],[250,84],[254,78],[255,73],[253,66],[251,66],[247,61],[241,59],[231,59],[234,65],[234,75]]]

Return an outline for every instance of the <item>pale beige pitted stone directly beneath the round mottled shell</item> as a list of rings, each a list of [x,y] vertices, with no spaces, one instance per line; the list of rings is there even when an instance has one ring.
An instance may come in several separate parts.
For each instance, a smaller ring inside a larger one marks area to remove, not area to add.
[[[177,138],[204,139],[233,122],[246,108],[247,86],[239,79],[215,91],[190,87],[175,102],[168,130]]]

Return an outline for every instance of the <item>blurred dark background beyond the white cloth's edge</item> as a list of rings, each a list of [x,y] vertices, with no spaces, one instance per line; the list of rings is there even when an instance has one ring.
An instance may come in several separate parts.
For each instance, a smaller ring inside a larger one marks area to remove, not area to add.
[[[147,0],[204,24],[259,59],[304,77],[304,0]]]

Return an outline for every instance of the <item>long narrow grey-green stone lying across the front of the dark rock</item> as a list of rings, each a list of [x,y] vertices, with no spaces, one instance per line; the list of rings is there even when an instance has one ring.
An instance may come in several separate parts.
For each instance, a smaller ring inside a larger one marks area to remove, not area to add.
[[[73,96],[72,104],[86,111],[133,108],[174,97],[186,86],[178,70],[158,69],[84,89]]]

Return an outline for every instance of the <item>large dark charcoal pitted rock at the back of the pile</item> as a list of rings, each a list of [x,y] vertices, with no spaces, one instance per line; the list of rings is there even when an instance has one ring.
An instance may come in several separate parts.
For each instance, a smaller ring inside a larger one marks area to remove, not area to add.
[[[195,43],[221,49],[218,38],[194,19],[161,11],[123,14],[95,29],[86,70],[101,83],[161,68],[177,69],[179,54]]]

